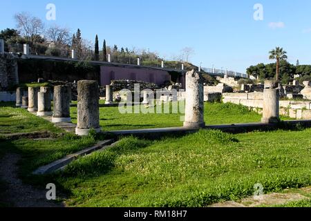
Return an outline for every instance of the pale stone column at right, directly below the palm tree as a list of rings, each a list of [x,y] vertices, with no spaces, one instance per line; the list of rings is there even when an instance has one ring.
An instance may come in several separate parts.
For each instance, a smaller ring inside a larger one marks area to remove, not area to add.
[[[264,124],[275,124],[280,122],[279,118],[279,90],[275,81],[265,81],[263,89],[263,118]]]

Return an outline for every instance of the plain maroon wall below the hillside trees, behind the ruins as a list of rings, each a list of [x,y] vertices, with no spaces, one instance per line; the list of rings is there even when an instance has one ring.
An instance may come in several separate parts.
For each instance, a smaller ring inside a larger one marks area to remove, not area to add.
[[[171,75],[166,70],[152,70],[147,68],[122,68],[101,66],[100,84],[101,86],[111,84],[111,80],[129,79],[144,81],[161,85],[164,81],[170,81]]]

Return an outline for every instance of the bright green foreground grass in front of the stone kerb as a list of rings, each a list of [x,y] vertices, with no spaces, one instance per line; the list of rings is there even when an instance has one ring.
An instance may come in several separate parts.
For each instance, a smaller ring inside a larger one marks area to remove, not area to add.
[[[311,129],[124,138],[50,177],[69,206],[207,206],[311,184]],[[299,142],[297,142],[299,140]]]

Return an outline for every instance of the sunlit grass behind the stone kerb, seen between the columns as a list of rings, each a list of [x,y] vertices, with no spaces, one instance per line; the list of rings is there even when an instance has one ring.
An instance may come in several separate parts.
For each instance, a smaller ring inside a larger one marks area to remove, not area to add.
[[[144,108],[144,106],[141,106]],[[77,108],[70,108],[73,123],[77,123]],[[100,126],[104,131],[130,130],[139,128],[165,128],[182,126],[182,114],[173,113],[120,113],[118,107],[100,108]],[[282,119],[289,119],[282,117]],[[238,124],[260,122],[261,115],[236,104],[205,103],[205,122],[213,124]]]

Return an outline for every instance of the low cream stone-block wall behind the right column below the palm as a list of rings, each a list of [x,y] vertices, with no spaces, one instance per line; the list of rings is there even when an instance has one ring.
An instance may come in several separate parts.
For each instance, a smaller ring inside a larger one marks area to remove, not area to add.
[[[262,113],[263,93],[223,93],[224,103],[241,104]],[[311,101],[280,101],[280,115],[294,119],[311,119]]]

